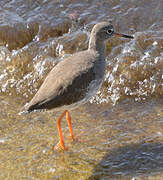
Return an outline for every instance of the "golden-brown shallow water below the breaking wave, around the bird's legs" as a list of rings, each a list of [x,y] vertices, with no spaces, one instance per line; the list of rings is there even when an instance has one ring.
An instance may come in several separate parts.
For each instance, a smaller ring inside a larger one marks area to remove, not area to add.
[[[1,179],[163,178],[162,101],[86,104],[72,111],[79,141],[70,142],[63,121],[66,152],[53,151],[59,113],[20,116],[18,104],[1,102]]]

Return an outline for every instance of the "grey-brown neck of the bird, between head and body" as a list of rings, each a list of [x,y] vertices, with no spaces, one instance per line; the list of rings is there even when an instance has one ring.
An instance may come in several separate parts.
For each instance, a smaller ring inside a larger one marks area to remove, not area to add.
[[[97,51],[100,56],[105,57],[105,42],[99,41],[96,37],[91,36],[89,40],[89,50]]]

